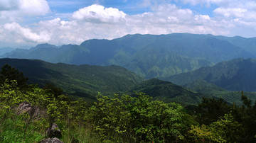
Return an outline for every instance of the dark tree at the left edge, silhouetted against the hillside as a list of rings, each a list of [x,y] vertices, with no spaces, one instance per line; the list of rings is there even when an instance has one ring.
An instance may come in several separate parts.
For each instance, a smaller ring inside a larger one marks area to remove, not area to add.
[[[3,67],[1,67],[0,84],[4,85],[6,79],[8,79],[8,81],[17,81],[17,86],[19,88],[24,88],[27,86],[26,81],[28,81],[28,78],[24,77],[22,72],[14,69],[14,67],[11,67],[9,64],[5,64]]]

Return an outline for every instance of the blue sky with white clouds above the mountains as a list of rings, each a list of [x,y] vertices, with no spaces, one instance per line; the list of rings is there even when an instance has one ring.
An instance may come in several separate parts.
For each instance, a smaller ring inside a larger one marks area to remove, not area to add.
[[[136,33],[256,37],[256,0],[0,0],[0,47]]]

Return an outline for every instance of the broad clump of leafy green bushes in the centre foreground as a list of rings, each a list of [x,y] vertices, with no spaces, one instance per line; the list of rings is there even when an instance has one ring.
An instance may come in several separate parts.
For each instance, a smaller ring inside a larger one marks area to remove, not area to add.
[[[144,93],[136,97],[100,96],[90,108],[93,129],[102,140],[168,142],[184,139],[181,105],[152,101]],[[113,136],[114,135],[114,136]]]

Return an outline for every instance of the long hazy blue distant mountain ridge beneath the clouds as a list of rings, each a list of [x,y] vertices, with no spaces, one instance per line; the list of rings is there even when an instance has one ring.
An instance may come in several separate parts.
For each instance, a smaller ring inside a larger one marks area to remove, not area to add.
[[[256,42],[249,38],[174,33],[126,35],[114,40],[86,40],[81,45],[37,45],[2,57],[41,59],[66,64],[118,65],[146,79],[165,78],[223,60],[255,58]],[[243,46],[239,44],[247,43]],[[250,41],[250,42],[248,42]]]

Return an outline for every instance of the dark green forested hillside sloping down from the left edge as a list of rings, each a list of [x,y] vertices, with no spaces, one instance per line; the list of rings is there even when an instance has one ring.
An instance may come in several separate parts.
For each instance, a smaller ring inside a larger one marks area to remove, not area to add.
[[[118,66],[76,66],[30,59],[0,59],[0,67],[6,63],[22,71],[28,77],[29,84],[44,86],[48,82],[63,88],[65,93],[78,96],[124,92],[144,80]]]

